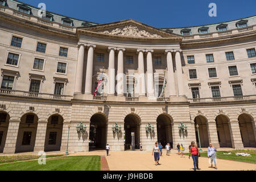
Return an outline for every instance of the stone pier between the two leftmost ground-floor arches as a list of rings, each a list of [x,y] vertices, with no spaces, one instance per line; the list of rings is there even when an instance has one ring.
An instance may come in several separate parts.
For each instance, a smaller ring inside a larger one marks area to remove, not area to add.
[[[16,148],[16,142],[19,131],[20,121],[9,121],[9,127],[7,131],[5,148],[3,148],[3,154],[14,154]]]

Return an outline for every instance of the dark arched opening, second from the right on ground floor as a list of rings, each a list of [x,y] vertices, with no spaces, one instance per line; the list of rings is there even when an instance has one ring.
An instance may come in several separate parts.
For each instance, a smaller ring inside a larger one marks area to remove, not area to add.
[[[232,147],[228,118],[220,114],[216,117],[215,121],[220,147]]]

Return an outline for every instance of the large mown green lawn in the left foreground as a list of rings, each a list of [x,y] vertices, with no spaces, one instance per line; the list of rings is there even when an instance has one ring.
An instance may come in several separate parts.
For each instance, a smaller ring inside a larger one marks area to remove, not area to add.
[[[46,159],[45,165],[39,165],[38,160],[0,165],[0,171],[100,171],[100,169],[100,156],[70,156]]]

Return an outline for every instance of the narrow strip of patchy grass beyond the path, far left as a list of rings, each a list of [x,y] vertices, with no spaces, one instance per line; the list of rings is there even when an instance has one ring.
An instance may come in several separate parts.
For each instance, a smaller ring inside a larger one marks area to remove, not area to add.
[[[46,158],[54,158],[63,155],[47,155]],[[0,156],[0,164],[3,163],[12,163],[16,161],[22,160],[31,160],[31,159],[38,159],[39,155],[14,155],[14,156]]]

